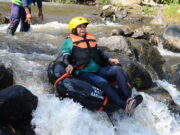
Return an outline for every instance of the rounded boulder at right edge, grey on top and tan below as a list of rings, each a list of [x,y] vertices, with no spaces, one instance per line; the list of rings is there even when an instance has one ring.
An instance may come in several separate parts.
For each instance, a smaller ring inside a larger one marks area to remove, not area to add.
[[[168,26],[163,34],[163,46],[173,52],[180,52],[180,25]]]

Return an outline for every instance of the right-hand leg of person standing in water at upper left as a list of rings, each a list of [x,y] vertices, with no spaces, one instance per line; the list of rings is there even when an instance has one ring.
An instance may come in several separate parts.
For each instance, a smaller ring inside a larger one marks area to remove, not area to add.
[[[26,22],[26,12],[24,8],[21,8],[21,28],[20,32],[27,32],[30,29],[30,24]]]

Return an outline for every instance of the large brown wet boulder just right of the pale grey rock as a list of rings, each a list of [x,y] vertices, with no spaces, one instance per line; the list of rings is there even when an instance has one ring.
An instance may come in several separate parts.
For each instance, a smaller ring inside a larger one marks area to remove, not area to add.
[[[153,79],[163,79],[165,75],[163,71],[165,60],[158,49],[150,45],[146,40],[131,39],[130,41],[137,60],[145,65]]]

